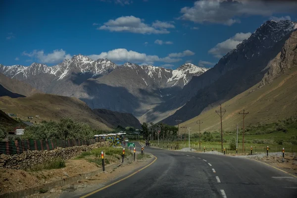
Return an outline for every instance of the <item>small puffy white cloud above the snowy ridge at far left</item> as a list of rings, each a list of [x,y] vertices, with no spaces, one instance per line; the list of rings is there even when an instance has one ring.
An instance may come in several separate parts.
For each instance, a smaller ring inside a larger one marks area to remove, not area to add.
[[[57,62],[63,61],[66,58],[68,59],[71,58],[71,55],[69,53],[66,54],[66,51],[64,51],[63,49],[55,49],[52,51],[52,53],[48,53],[48,54],[45,54],[44,50],[38,51],[34,49],[30,53],[27,53],[26,51],[24,51],[22,55],[35,58],[42,63],[57,63]]]

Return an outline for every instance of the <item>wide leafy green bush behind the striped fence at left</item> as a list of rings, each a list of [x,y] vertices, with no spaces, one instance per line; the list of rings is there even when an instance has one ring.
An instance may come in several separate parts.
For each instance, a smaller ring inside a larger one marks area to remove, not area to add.
[[[49,121],[34,124],[25,129],[23,139],[32,140],[88,140],[94,137],[94,130],[86,123],[71,118],[59,122]]]

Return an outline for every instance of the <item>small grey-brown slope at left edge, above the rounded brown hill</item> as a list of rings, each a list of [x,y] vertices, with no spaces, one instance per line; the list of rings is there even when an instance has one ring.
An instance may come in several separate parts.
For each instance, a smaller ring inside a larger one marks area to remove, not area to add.
[[[2,96],[11,97],[11,95],[4,94],[4,89],[12,93],[17,93],[19,95],[22,95],[20,97],[31,96],[33,94],[40,93],[39,90],[31,87],[30,85],[16,79],[8,78],[1,73],[0,73],[0,85],[2,86],[0,90],[1,97]],[[11,98],[17,98],[17,97],[11,97]]]

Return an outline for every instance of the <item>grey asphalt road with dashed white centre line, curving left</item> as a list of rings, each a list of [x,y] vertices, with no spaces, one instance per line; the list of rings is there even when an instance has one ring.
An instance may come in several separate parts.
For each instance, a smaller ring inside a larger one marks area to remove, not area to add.
[[[157,157],[153,164],[89,198],[297,198],[297,178],[261,162],[147,147],[145,151]]]

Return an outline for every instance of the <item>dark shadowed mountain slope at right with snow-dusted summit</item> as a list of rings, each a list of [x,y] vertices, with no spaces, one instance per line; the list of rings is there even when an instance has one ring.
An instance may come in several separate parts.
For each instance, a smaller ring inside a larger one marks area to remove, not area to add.
[[[268,69],[267,64],[281,51],[285,41],[296,29],[297,23],[292,21],[265,22],[213,68],[193,77],[178,97],[154,111],[165,112],[182,106],[162,120],[174,124],[175,119],[191,119],[205,108],[232,99],[262,80]]]

